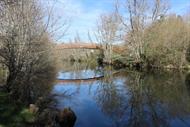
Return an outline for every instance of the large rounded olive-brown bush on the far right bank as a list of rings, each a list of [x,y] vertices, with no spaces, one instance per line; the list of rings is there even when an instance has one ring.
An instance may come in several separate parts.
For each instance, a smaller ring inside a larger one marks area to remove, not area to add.
[[[189,33],[190,26],[175,15],[152,24],[145,31],[145,62],[156,67],[184,67],[189,60]]]

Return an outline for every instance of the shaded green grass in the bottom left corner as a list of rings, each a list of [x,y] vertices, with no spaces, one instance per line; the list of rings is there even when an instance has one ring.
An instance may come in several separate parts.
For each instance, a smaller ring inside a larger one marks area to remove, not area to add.
[[[0,127],[22,127],[35,121],[34,114],[22,105],[16,105],[7,93],[0,92]]]

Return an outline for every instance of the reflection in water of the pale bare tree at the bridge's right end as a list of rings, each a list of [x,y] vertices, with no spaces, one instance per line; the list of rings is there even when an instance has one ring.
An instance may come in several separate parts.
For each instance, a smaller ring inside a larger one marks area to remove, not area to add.
[[[122,123],[122,117],[125,114],[126,102],[129,97],[127,91],[122,89],[120,85],[125,81],[125,78],[118,80],[117,75],[113,75],[112,71],[105,73],[104,79],[101,80],[97,91],[95,92],[95,99],[102,111],[110,116],[114,121],[115,126]]]

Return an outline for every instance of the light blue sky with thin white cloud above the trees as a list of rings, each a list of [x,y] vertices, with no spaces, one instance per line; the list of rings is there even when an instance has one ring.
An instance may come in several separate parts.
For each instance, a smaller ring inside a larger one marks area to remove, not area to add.
[[[58,1],[57,13],[60,13],[60,15],[66,14],[71,19],[70,28],[66,36],[60,40],[61,42],[68,42],[70,39],[73,39],[77,33],[80,35],[81,40],[84,42],[88,41],[88,31],[91,34],[94,33],[98,17],[102,13],[111,12],[114,4],[114,0]],[[187,8],[190,8],[190,0],[170,0],[170,6],[170,12],[183,14]]]

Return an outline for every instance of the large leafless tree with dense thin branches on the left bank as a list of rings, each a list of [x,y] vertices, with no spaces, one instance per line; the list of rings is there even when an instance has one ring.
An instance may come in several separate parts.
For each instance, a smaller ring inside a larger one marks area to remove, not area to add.
[[[2,0],[0,10],[0,57],[9,72],[7,89],[18,83],[29,89],[26,82],[32,75],[53,68],[51,35],[57,24],[37,0]]]

